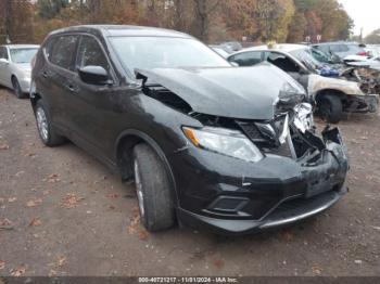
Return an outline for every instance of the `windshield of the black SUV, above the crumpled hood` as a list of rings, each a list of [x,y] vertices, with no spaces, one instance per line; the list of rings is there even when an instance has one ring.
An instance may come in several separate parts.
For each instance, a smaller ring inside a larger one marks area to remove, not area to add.
[[[189,38],[111,37],[126,68],[176,68],[231,66],[202,42]]]

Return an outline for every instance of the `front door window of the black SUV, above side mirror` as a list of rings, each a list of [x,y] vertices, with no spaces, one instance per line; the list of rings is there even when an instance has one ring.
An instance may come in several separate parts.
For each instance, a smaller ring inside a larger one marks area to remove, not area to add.
[[[109,62],[98,41],[92,37],[84,36],[78,49],[77,67],[86,66],[101,66],[110,70]]]

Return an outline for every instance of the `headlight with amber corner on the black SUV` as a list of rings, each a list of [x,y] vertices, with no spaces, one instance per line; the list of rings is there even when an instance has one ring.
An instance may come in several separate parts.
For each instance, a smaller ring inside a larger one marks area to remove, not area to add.
[[[183,127],[182,130],[197,147],[246,162],[258,162],[263,158],[259,150],[240,131],[215,127]]]

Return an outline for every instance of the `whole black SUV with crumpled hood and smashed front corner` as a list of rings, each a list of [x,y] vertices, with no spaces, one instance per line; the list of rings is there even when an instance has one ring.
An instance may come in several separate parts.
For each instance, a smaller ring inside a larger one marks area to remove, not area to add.
[[[42,142],[69,139],[135,180],[150,231],[286,225],[333,205],[347,159],[314,132],[305,90],[269,64],[237,68],[197,39],[134,26],[50,34],[30,100]]]

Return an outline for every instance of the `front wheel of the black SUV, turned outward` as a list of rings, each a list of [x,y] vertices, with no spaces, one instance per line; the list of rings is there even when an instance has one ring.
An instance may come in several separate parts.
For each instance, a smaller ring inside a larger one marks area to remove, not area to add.
[[[159,155],[147,144],[134,149],[134,172],[140,220],[150,232],[175,223],[173,186]]]

